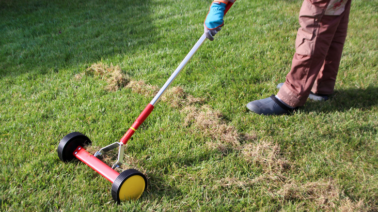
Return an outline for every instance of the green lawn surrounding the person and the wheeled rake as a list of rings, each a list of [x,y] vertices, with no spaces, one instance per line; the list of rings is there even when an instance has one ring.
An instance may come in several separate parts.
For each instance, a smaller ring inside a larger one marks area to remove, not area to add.
[[[127,145],[129,167],[149,178],[139,200],[117,205],[110,182],[59,160],[63,136],[118,141],[153,97],[82,73],[102,61],[161,87],[203,33],[209,3],[0,1],[0,211],[377,211],[373,0],[352,2],[332,99],[269,117],[245,105],[284,81],[301,0],[236,1],[173,83],[182,103],[160,102]],[[188,111],[189,96],[204,101]]]

